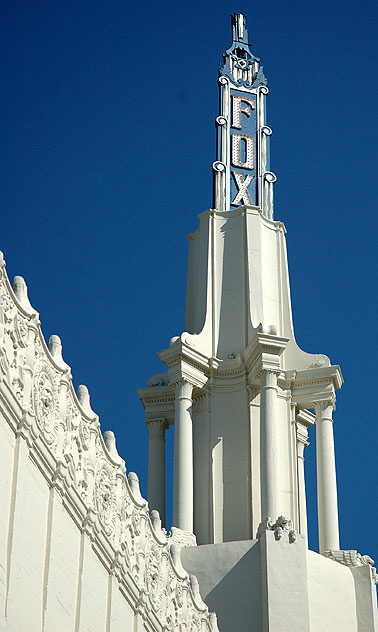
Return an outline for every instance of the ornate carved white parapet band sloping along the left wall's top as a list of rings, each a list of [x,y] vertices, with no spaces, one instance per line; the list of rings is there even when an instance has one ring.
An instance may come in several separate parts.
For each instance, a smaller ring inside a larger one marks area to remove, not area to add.
[[[59,337],[46,345],[26,284],[16,277],[12,289],[2,255],[0,416],[26,442],[48,488],[59,494],[136,614],[158,620],[167,632],[218,629],[159,515],[150,515],[138,477],[126,476],[114,434],[102,435],[88,389],[75,392]]]

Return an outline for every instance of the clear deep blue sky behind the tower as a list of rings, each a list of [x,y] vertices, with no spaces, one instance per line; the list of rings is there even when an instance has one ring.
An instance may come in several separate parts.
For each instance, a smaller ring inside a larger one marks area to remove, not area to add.
[[[183,330],[186,235],[211,205],[217,69],[234,12],[248,16],[270,88],[296,338],[345,378],[341,546],[378,561],[375,1],[3,3],[0,248],[146,494],[135,389],[164,370],[157,352]]]

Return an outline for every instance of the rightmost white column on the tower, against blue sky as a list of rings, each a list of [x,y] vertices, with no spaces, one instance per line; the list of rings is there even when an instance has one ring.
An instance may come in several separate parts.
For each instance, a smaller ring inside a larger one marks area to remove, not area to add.
[[[316,413],[316,477],[318,486],[319,552],[339,550],[339,518],[332,401],[314,403]]]

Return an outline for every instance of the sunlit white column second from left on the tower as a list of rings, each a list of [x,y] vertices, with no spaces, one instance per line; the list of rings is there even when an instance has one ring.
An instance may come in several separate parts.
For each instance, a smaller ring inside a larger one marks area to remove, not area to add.
[[[175,384],[175,436],[173,460],[173,526],[193,533],[193,385]]]

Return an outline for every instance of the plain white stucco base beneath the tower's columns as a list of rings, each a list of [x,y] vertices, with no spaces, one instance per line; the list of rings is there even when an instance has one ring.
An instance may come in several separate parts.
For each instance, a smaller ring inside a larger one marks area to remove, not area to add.
[[[308,551],[306,540],[265,531],[259,540],[182,549],[222,632],[376,632],[368,566],[349,568]]]

